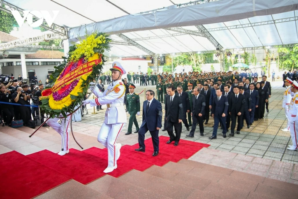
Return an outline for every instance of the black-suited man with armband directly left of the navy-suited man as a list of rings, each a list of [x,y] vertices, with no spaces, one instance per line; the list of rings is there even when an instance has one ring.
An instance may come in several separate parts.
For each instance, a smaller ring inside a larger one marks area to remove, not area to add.
[[[193,118],[193,125],[191,127],[191,131],[189,135],[186,135],[187,137],[194,137],[195,129],[197,127],[197,123],[200,127],[200,134],[201,136],[204,135],[204,126],[203,126],[203,118],[205,114],[205,107],[206,107],[206,101],[204,95],[200,95],[199,88],[196,87],[193,90],[193,109],[191,112],[191,116]]]

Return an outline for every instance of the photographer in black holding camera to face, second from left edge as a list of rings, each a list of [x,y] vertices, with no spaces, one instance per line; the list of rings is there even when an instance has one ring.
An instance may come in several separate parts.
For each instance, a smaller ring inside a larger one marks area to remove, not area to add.
[[[22,89],[22,87],[18,87],[16,92],[12,95],[13,100],[17,104],[26,105],[27,96],[26,92]],[[29,121],[29,110],[25,106],[15,106],[15,117],[18,118],[18,115],[21,115],[21,119],[23,120],[24,126],[27,125],[27,122]],[[17,113],[17,114],[16,114]]]

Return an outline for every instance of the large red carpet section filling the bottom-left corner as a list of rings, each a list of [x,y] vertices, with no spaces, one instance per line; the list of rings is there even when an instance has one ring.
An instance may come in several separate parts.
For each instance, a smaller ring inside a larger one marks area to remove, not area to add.
[[[32,198],[71,179],[16,151],[0,160],[1,198]]]

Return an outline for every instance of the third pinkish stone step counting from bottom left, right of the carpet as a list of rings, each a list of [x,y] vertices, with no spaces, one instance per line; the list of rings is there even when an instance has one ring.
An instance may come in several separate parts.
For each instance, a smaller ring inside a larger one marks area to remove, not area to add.
[[[169,198],[187,198],[194,190],[190,186],[176,184],[173,183],[173,181],[137,170],[131,170],[130,172],[120,176],[119,179],[126,183],[131,183]]]

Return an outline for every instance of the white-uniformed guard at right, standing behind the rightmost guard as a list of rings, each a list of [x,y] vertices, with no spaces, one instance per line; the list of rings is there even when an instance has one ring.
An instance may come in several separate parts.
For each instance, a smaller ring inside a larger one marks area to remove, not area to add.
[[[292,95],[293,94],[291,92],[291,85],[293,84],[293,81],[287,77],[287,79],[285,80],[285,92],[283,93],[283,108],[285,109],[285,117],[288,120],[287,123],[287,127],[285,127],[284,129],[282,129],[282,131],[290,131],[290,120],[289,120],[289,105],[292,99]]]

